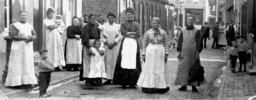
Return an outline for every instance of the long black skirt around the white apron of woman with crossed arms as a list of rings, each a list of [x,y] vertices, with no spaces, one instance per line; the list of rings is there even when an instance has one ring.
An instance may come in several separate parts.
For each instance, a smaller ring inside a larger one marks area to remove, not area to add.
[[[124,37],[125,38],[125,37]],[[135,69],[123,69],[121,67],[122,61],[122,49],[123,49],[123,42],[124,38],[121,41],[117,61],[116,61],[116,68],[113,77],[113,84],[116,85],[136,85],[140,73],[141,73],[141,63],[140,63],[140,46],[137,41],[137,54],[136,54],[136,68]]]

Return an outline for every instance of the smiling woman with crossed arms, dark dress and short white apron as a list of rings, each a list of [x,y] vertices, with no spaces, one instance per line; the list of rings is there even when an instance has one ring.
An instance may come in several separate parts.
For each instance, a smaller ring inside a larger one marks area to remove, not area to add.
[[[135,11],[128,7],[125,10],[127,21],[121,24],[121,34],[125,36],[120,44],[116,61],[113,83],[122,85],[122,89],[136,89],[141,72],[140,47],[136,38],[140,37],[140,24],[133,21]]]

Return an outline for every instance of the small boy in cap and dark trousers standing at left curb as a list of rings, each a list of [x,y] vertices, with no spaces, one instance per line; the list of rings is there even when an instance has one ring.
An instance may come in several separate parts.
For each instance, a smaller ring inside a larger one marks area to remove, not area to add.
[[[39,70],[39,97],[50,97],[51,94],[47,94],[46,90],[51,81],[51,73],[54,70],[54,64],[48,60],[47,49],[39,51],[41,59],[38,63]]]

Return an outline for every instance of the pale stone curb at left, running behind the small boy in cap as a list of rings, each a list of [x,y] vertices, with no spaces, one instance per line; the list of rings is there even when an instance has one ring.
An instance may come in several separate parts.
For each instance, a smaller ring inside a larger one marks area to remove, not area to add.
[[[60,79],[58,81],[50,83],[48,89],[51,88],[50,90],[52,90],[53,88],[56,88],[60,85],[66,84],[66,83],[76,81],[77,79],[79,79],[79,74]],[[12,97],[20,97],[20,96],[26,96],[27,94],[30,94],[30,93],[36,93],[36,91],[39,91],[38,85],[32,89],[15,90],[15,91],[8,92],[5,95],[8,97],[11,97],[11,98]]]

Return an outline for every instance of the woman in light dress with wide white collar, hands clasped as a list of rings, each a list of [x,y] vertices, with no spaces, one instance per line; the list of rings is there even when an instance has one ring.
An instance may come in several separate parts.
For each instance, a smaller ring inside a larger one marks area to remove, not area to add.
[[[108,23],[99,27],[100,39],[106,49],[104,60],[107,73],[107,81],[103,85],[111,84],[116,67],[116,60],[120,48],[120,40],[123,38],[120,32],[120,24],[116,24],[116,14],[109,12],[107,15]],[[103,45],[103,44],[102,44]]]

